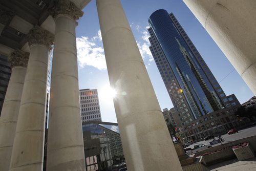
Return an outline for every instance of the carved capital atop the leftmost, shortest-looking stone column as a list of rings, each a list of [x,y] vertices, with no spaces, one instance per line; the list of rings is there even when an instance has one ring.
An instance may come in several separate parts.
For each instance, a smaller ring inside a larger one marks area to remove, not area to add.
[[[29,53],[19,49],[15,49],[8,57],[8,61],[11,63],[11,67],[26,67],[28,66]]]

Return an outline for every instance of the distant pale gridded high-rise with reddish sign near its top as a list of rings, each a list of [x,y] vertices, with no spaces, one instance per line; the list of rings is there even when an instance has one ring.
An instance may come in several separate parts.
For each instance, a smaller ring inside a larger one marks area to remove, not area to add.
[[[97,89],[83,89],[79,92],[82,122],[101,121]]]

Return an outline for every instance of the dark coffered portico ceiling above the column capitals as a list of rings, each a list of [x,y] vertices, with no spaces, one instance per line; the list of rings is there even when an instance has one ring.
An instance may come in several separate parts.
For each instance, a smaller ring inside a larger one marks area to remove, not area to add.
[[[71,0],[84,8],[91,0]],[[54,0],[4,0],[0,2],[0,54],[8,55],[13,49],[29,52],[25,36],[34,25],[54,34],[55,23],[48,7]],[[1,33],[2,31],[2,33]]]

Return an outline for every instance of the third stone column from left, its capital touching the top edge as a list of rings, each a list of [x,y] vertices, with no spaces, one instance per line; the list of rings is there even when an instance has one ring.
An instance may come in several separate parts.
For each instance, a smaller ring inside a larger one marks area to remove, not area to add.
[[[82,16],[70,1],[58,1],[52,61],[47,170],[85,170],[76,55],[76,20]]]

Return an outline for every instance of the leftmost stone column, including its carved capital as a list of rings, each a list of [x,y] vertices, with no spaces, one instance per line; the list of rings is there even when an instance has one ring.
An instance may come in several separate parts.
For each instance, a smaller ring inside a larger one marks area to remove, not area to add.
[[[9,169],[28,59],[29,53],[22,50],[15,50],[8,58],[12,74],[0,117],[0,170]]]

